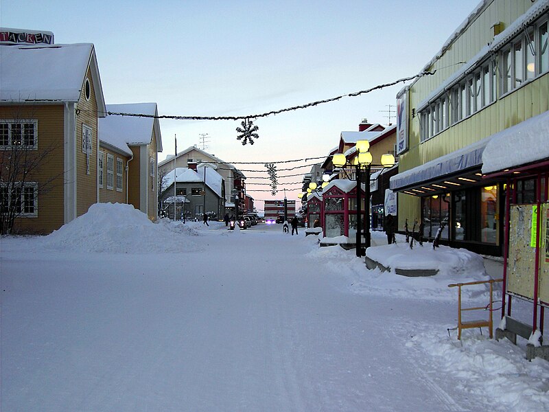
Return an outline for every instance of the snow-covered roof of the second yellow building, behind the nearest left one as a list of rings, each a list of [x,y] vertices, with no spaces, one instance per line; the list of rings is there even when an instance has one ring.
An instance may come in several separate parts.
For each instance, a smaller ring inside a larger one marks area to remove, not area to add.
[[[106,111],[158,116],[156,103],[107,104]],[[100,119],[99,127],[101,141],[125,150],[129,150],[128,145],[150,144],[154,130],[156,151],[162,151],[160,123],[156,117],[108,115]]]

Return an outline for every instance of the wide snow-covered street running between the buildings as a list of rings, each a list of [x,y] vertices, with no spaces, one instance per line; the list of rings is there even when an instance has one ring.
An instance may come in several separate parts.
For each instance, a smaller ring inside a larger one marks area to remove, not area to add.
[[[139,253],[84,253],[85,216],[1,239],[2,411],[549,410],[549,363],[448,337],[447,288],[393,293],[398,275],[280,225],[150,224],[180,244],[145,253],[130,222]]]

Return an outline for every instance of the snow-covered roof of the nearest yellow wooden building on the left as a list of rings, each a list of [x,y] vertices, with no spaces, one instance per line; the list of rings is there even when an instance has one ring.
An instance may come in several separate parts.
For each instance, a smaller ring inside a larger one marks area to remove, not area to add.
[[[2,102],[78,102],[91,69],[99,116],[103,90],[92,43],[0,46]]]

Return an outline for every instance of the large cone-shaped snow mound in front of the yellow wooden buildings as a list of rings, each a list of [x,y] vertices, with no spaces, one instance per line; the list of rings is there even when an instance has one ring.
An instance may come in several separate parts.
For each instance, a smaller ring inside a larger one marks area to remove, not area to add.
[[[181,253],[201,247],[165,223],[155,225],[132,205],[95,203],[86,214],[75,218],[43,238],[47,249],[109,253]]]

